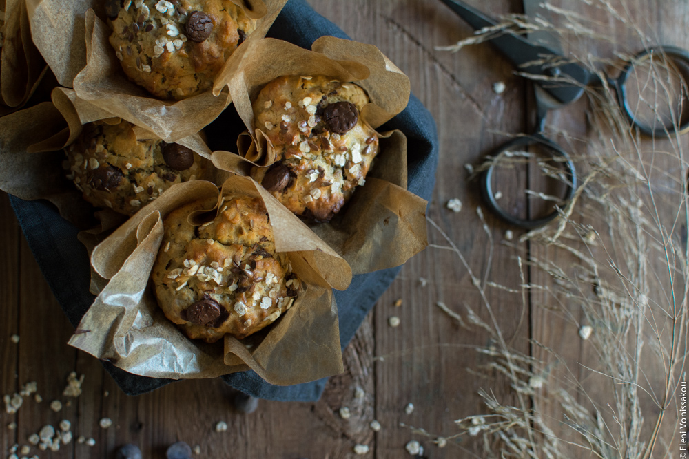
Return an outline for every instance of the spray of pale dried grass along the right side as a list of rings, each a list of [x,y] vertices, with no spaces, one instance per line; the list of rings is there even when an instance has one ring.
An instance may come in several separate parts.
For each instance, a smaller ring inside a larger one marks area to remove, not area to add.
[[[604,0],[586,0],[586,3],[599,8],[607,15],[606,19],[612,17],[633,30],[643,43],[650,42],[631,21],[624,2],[619,6]],[[595,27],[587,25],[590,18],[547,2],[544,5],[558,16],[557,28],[545,21],[529,23],[524,17],[508,15],[502,18],[500,26],[438,49],[456,52],[504,33],[502,29],[506,26],[519,27],[522,32],[548,30],[560,34],[563,40],[593,36],[612,41],[610,36],[601,35],[595,32]],[[617,54],[625,59],[630,55]],[[471,372],[488,381],[495,372],[506,376],[517,401],[516,406],[506,405],[492,392],[481,390],[479,395],[487,414],[455,421],[458,429],[455,437],[480,438],[484,453],[495,458],[566,458],[577,449],[598,458],[668,457],[669,445],[660,438],[660,433],[672,429],[666,423],[666,416],[673,407],[677,409],[674,396],[686,370],[688,351],[689,241],[679,228],[682,225],[689,228],[689,178],[684,176],[684,171],[689,169],[689,158],[679,138],[654,142],[641,138],[630,127],[617,105],[617,94],[600,67],[601,62],[608,69],[619,67],[619,61],[605,62],[589,55],[573,55],[573,58],[599,74],[603,82],[601,88],[587,89],[586,93],[590,123],[597,136],[583,141],[560,133],[572,142],[570,146],[574,144],[579,151],[586,152],[578,163],[579,167],[581,164],[588,167],[574,199],[559,210],[557,222],[520,239],[550,248],[542,251],[549,256],[517,256],[515,268],[519,270],[522,288],[519,292],[503,289],[520,295],[524,307],[528,306],[528,292],[541,292],[552,301],[552,310],[577,327],[577,314],[584,312],[586,321],[596,328],[591,341],[599,360],[598,369],[585,368],[589,374],[606,378],[611,399],[597,399],[588,394],[581,378],[545,343],[533,341],[533,347],[542,350],[548,359],[525,355],[507,343],[486,293],[490,288],[502,288],[490,281],[490,261],[482,275],[475,273],[451,238],[429,220],[447,244],[436,247],[453,250],[457,255],[480,294],[482,308],[489,314],[490,320],[486,322],[466,306],[466,323],[486,330],[492,343],[477,348],[477,352],[490,357],[489,363]],[[650,75],[644,84],[654,87],[664,103],[671,106],[668,82],[656,69]],[[687,88],[683,90],[686,94]],[[660,116],[656,111],[657,102],[642,98],[640,105],[650,107]],[[672,122],[675,127],[679,124],[675,118]],[[489,158],[473,170],[478,173],[489,162],[500,160],[504,165],[505,160],[519,162],[531,155],[513,152],[512,158],[506,156],[509,155]],[[544,173],[558,176],[555,170],[546,169]],[[489,237],[489,260],[492,260],[495,242],[481,209],[477,212]],[[568,261],[564,261],[563,253],[568,255]],[[662,269],[656,269],[657,266]],[[550,281],[546,285],[526,281],[526,268],[544,273]],[[647,374],[655,370],[656,361],[661,363],[663,383],[660,385]],[[555,366],[560,376],[551,374]],[[540,389],[546,383],[549,390],[548,397],[544,398]],[[577,396],[583,400],[579,401]],[[644,411],[643,397],[650,398],[657,414]],[[542,407],[548,404],[557,405],[562,418],[544,416]],[[562,438],[553,428],[558,423],[575,432],[577,440]],[[652,426],[650,431],[643,429],[645,423]],[[422,429],[417,431],[430,436]]]

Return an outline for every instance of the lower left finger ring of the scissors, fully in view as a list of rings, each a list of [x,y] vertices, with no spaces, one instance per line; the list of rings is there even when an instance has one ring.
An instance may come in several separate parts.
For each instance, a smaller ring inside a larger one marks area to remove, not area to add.
[[[551,152],[552,158],[560,157],[564,159],[561,160],[561,162],[562,164],[564,164],[569,180],[569,182],[566,183],[567,190],[565,193],[566,196],[564,198],[564,202],[570,201],[572,198],[574,198],[575,190],[577,189],[577,171],[574,167],[574,162],[572,161],[572,158],[570,158],[567,152],[564,151],[561,147],[559,147],[559,145],[557,145],[555,142],[551,142],[551,140],[546,139],[544,136],[541,136],[540,134],[519,137],[500,147],[500,149],[495,151],[494,156],[495,158],[498,158],[498,156],[500,156],[500,153],[502,153],[503,151],[509,151],[517,147],[528,147],[529,145],[535,144],[541,144],[545,147],[548,147],[548,151]],[[550,213],[543,218],[539,218],[536,220],[523,220],[521,218],[517,218],[514,215],[507,213],[504,209],[502,209],[502,207],[500,207],[500,204],[497,204],[497,199],[495,199],[495,193],[493,193],[493,185],[491,184],[491,180],[493,180],[493,170],[495,169],[495,165],[497,164],[497,162],[497,160],[493,161],[491,166],[488,169],[486,169],[486,171],[484,171],[481,178],[481,193],[483,195],[483,200],[486,203],[486,206],[488,206],[488,208],[491,209],[491,211],[495,213],[495,215],[497,215],[509,224],[524,229],[538,228],[539,226],[543,226],[544,224],[551,222],[555,217],[557,217],[557,215],[559,215],[557,209],[554,209],[553,213]]]

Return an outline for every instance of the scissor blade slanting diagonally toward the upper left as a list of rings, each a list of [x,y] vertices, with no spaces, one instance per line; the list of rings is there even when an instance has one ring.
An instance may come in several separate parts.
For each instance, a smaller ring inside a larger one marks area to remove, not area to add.
[[[475,10],[461,0],[441,0],[454,12],[468,22],[473,28],[480,29],[486,26],[497,25],[497,21],[486,17],[482,12]],[[569,76],[575,83],[565,81],[544,82],[541,86],[562,104],[568,104],[577,100],[584,93],[583,87],[588,83],[590,73],[580,65],[569,63],[553,67],[548,61],[548,56],[560,56],[562,54],[545,46],[534,45],[523,36],[505,29],[502,34],[489,40],[508,58],[520,72],[537,76]],[[542,63],[544,62],[544,63]]]

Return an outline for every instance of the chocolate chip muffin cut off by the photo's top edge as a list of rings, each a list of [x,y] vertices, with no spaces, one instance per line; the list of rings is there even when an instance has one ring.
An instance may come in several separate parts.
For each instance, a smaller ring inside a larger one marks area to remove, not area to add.
[[[106,0],[110,44],[134,83],[180,100],[207,91],[256,29],[231,0]]]

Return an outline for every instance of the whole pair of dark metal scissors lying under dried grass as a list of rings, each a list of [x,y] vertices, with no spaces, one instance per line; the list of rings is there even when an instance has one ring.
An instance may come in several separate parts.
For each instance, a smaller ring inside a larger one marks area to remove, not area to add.
[[[451,10],[457,13],[475,30],[498,25],[497,21],[487,17],[485,14],[472,8],[463,1],[442,0],[442,2],[445,3],[446,6],[449,6]],[[542,0],[524,0],[524,12],[526,12],[526,15],[535,17],[536,12],[539,11],[539,3],[541,2]],[[523,150],[530,145],[545,147],[544,150],[548,151],[553,159],[562,163],[562,167],[564,167],[564,173],[566,175],[566,196],[563,202],[567,202],[574,197],[577,188],[577,172],[574,162],[568,153],[555,142],[542,135],[546,114],[552,109],[558,109],[564,105],[575,102],[575,100],[584,94],[587,86],[601,85],[602,82],[597,74],[564,58],[554,34],[550,34],[546,31],[539,31],[535,32],[535,34],[529,34],[529,38],[530,39],[526,39],[524,36],[517,34],[514,30],[506,28],[504,29],[504,33],[497,34],[497,36],[490,39],[489,42],[497,47],[497,49],[500,50],[500,52],[502,52],[502,54],[504,54],[504,56],[506,56],[506,58],[508,58],[508,60],[521,72],[534,76],[558,78],[557,81],[533,81],[536,99],[536,127],[533,134],[530,136],[517,137],[515,140],[502,145],[502,147],[497,149],[494,153],[497,158],[501,153],[514,151],[515,149]],[[535,42],[536,40],[537,42]],[[632,104],[630,104],[627,96],[628,78],[633,72],[635,65],[652,59],[653,56],[664,56],[675,62],[677,67],[683,70],[683,80],[685,81],[683,84],[683,88],[685,88],[683,93],[684,98],[687,98],[686,81],[689,81],[689,53],[686,50],[673,46],[654,47],[639,52],[639,54],[634,56],[634,58],[626,64],[626,67],[624,67],[617,78],[606,77],[606,82],[610,87],[615,89],[617,101],[622,111],[626,114],[626,118],[631,125],[637,127],[639,131],[648,136],[655,137],[684,134],[689,131],[689,119],[679,120],[679,127],[677,127],[675,123],[662,123],[663,125],[656,127],[655,123],[654,125],[649,125],[639,120],[633,113]],[[495,173],[495,165],[496,162],[493,161],[491,166],[484,171],[481,178],[482,196],[486,205],[489,206],[493,213],[502,218],[505,222],[526,229],[537,228],[557,217],[557,209],[553,209],[553,212],[546,215],[546,217],[535,220],[520,219],[502,209],[497,203],[491,184]]]

